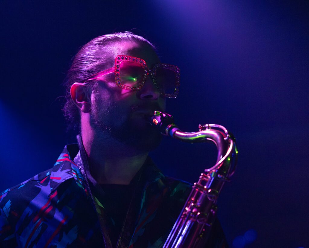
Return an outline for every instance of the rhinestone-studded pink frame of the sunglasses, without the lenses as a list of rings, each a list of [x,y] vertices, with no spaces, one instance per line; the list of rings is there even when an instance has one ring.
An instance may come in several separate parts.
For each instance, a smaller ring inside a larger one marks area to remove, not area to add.
[[[144,76],[143,76],[142,82],[138,85],[138,87],[130,87],[130,86],[126,86],[123,83],[121,83],[121,77],[120,77],[121,66],[120,65],[121,65],[121,62],[123,62],[123,61],[130,61],[130,62],[138,63],[144,69]],[[176,96],[178,95],[179,86],[180,86],[180,83],[179,83],[179,81],[180,81],[180,69],[177,66],[164,64],[164,63],[157,63],[152,68],[148,68],[145,60],[143,60],[141,58],[133,57],[133,56],[128,56],[128,55],[117,55],[116,58],[115,58],[114,67],[109,68],[109,69],[104,70],[104,71],[100,71],[100,72],[90,76],[89,78],[83,80],[83,83],[87,83],[87,81],[89,81],[89,80],[95,80],[95,79],[98,79],[102,76],[105,76],[105,75],[108,75],[108,74],[111,74],[111,73],[114,72],[115,82],[116,82],[116,85],[118,87],[126,89],[126,90],[138,91],[145,84],[147,77],[149,75],[151,75],[153,82],[155,83],[156,87],[159,90],[158,83],[156,81],[156,76],[155,76],[156,70],[158,68],[165,68],[165,69],[169,69],[169,70],[175,72],[175,74],[176,74],[176,87],[175,87],[174,93],[167,94],[167,93],[160,92],[160,94],[165,96],[165,97],[168,97],[168,98],[176,98]]]

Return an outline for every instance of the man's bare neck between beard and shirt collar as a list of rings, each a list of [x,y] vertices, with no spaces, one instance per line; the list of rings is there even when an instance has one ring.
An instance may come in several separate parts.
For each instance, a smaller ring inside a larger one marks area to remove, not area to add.
[[[148,156],[148,152],[131,155],[132,152],[120,148],[119,144],[108,138],[102,140],[89,130],[87,133],[82,131],[82,140],[91,176],[99,184],[128,185]]]

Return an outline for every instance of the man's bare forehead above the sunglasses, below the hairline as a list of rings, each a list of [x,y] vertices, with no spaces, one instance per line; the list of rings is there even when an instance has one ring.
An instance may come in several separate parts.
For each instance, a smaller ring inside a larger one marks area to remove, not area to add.
[[[148,66],[159,63],[160,59],[155,50],[149,44],[139,44],[136,42],[121,41],[112,47],[113,57],[117,55],[129,55],[142,58]]]

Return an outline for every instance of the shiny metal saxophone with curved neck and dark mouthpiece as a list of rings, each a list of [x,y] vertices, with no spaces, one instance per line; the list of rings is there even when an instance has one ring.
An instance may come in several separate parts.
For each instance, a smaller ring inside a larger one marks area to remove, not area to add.
[[[150,118],[152,125],[158,126],[161,134],[188,143],[212,141],[218,149],[216,164],[205,169],[193,189],[174,224],[164,248],[205,247],[211,227],[216,218],[217,199],[225,182],[235,171],[237,148],[235,138],[225,127],[216,124],[199,125],[198,132],[182,132],[168,113],[155,111]]]

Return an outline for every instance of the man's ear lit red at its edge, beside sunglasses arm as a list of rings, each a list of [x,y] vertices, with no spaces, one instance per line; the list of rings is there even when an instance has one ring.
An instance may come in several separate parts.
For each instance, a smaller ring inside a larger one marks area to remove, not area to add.
[[[91,90],[83,83],[73,83],[70,89],[71,98],[84,113],[91,111]]]

